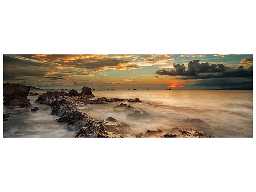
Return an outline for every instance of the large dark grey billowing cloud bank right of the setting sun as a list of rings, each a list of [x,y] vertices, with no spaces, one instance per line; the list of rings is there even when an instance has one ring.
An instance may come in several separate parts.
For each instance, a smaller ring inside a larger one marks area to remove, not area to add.
[[[174,69],[157,70],[158,75],[183,76],[177,79],[208,79],[224,77],[252,77],[252,66],[232,69],[223,64],[199,63],[199,60],[188,62],[188,69],[184,64],[173,64]]]

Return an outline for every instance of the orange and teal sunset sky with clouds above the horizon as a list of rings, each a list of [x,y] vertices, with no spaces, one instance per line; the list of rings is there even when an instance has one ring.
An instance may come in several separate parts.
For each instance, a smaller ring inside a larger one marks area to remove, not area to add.
[[[4,55],[3,71],[42,89],[252,88],[252,55]]]

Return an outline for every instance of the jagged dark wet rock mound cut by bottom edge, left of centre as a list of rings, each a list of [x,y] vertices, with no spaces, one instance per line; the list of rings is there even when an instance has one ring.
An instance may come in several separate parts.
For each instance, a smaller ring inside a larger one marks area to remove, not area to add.
[[[88,121],[81,128],[76,137],[109,137],[107,128],[100,122]]]

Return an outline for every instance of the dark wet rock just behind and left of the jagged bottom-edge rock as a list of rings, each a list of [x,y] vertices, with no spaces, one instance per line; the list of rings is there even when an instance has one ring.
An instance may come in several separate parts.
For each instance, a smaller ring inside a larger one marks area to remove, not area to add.
[[[64,113],[63,116],[66,114]],[[73,113],[71,113],[73,116]],[[71,118],[70,118],[71,119]],[[76,116],[72,117],[72,120],[65,126],[68,130],[78,130],[89,121],[93,120],[92,117],[88,116],[86,113],[78,112]]]

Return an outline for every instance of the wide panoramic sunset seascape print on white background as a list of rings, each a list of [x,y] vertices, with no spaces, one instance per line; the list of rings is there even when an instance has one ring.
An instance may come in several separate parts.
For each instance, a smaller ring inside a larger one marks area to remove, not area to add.
[[[4,137],[252,137],[252,55],[4,55]]]

